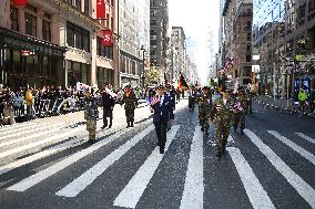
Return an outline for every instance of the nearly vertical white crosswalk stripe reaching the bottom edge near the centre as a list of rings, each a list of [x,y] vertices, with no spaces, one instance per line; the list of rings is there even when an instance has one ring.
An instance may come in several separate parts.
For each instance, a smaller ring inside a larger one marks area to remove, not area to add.
[[[203,133],[200,128],[196,126],[191,145],[181,209],[203,208]]]

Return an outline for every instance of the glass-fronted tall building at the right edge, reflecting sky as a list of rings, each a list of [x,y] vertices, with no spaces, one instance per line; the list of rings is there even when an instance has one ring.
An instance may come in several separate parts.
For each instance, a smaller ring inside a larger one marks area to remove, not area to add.
[[[303,85],[315,88],[314,0],[255,0],[253,55],[261,94],[288,98]]]

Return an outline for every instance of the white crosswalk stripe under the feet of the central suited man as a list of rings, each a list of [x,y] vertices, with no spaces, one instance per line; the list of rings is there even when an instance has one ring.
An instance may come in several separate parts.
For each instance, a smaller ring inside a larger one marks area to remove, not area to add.
[[[174,139],[179,125],[174,125],[167,133],[167,140],[165,144],[165,153],[167,151],[172,140]],[[144,189],[146,188],[149,181],[153,177],[156,168],[162,161],[164,155],[159,153],[159,147],[156,147],[152,154],[148,157],[144,164],[140,167],[136,174],[132,177],[125,188],[120,192],[120,195],[114,200],[114,206],[135,208],[138,201],[140,200]]]

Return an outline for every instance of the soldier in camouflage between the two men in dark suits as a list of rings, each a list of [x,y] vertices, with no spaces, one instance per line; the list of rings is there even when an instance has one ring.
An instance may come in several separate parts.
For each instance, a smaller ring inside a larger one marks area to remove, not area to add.
[[[138,100],[131,86],[125,86],[125,92],[122,96],[121,105],[124,104],[125,117],[126,117],[126,127],[133,127],[134,122],[134,109],[138,106]]]

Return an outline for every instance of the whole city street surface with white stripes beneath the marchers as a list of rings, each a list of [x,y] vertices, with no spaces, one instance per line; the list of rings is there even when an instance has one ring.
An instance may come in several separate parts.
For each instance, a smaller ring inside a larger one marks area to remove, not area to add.
[[[315,208],[315,118],[254,104],[245,135],[232,130],[219,159],[213,124],[203,135],[187,100],[176,105],[164,155],[151,114],[142,104],[125,128],[116,105],[113,127],[100,119],[94,144],[82,112],[3,127],[0,208]]]

